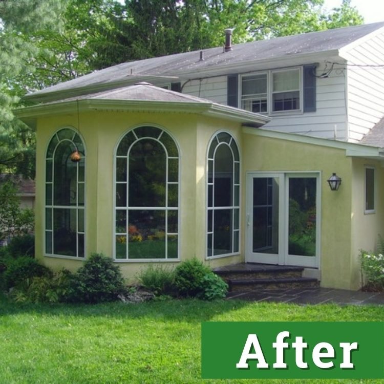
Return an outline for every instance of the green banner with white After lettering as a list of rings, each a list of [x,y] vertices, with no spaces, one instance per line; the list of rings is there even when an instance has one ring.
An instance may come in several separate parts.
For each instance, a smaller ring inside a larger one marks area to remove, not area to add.
[[[205,322],[202,378],[384,378],[381,322]]]

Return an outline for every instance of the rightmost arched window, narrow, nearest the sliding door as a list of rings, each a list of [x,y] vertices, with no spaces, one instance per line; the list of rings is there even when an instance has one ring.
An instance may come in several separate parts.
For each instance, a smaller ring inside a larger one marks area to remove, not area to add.
[[[207,257],[239,252],[240,159],[233,137],[218,133],[208,150]]]

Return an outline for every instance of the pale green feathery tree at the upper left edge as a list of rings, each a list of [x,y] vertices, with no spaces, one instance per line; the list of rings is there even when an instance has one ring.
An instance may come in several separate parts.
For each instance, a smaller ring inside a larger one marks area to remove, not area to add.
[[[65,0],[0,1],[0,172],[33,176],[34,133],[12,109],[26,92],[23,79],[33,72],[31,61],[39,51],[30,36],[57,28],[55,15],[63,6]]]

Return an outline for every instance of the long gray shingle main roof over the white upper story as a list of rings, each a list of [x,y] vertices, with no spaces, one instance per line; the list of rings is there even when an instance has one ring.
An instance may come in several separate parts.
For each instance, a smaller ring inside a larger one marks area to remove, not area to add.
[[[56,92],[103,86],[113,88],[113,83],[120,83],[121,86],[121,83],[132,84],[143,80],[151,82],[157,79],[158,82],[159,78],[164,82],[177,81],[178,76],[188,78],[191,74],[204,73],[211,69],[228,74],[233,72],[233,69],[228,67],[238,63],[338,50],[383,26],[384,23],[374,23],[251,41],[233,45],[233,50],[226,53],[223,53],[222,47],[211,48],[204,50],[203,61],[200,60],[200,51],[195,51],[125,62],[57,84],[27,97],[37,101]]]

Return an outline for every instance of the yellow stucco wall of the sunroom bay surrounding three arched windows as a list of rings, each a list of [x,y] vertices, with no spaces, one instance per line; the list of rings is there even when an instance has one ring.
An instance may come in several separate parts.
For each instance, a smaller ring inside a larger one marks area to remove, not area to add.
[[[86,146],[86,255],[113,251],[114,153],[120,138],[140,125],[154,125],[170,133],[180,150],[180,260],[206,254],[206,151],[219,130],[233,132],[240,142],[240,124],[195,114],[88,112],[80,114],[80,135]],[[77,127],[77,115],[41,118],[37,124],[36,212],[44,212],[45,153],[52,135],[62,127]],[[195,164],[197,166],[195,166]],[[53,269],[76,270],[81,261],[44,257],[44,220],[36,215],[36,257]],[[212,267],[240,262],[240,256],[207,261]],[[161,261],[163,263],[163,261]],[[176,265],[178,262],[167,262]],[[134,279],[146,262],[119,262],[123,274]]]

